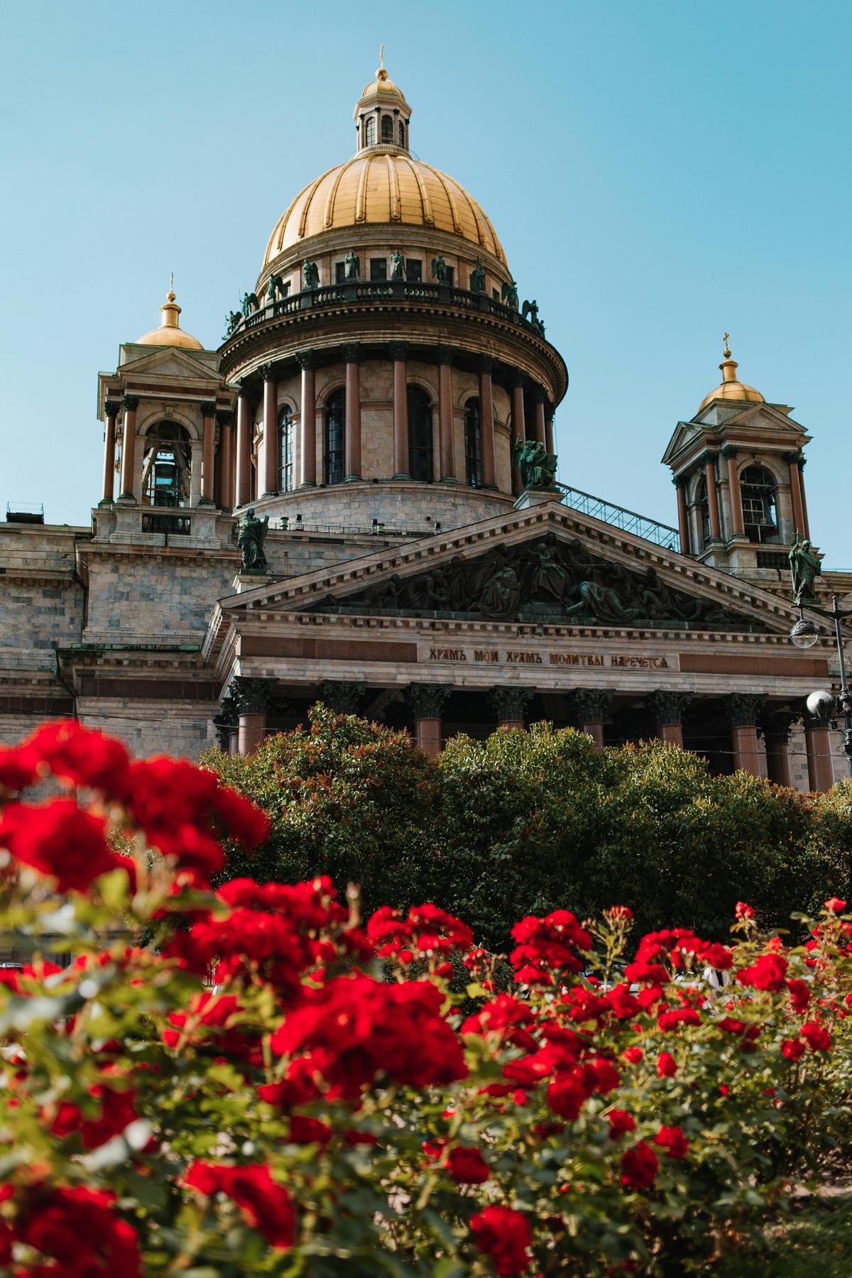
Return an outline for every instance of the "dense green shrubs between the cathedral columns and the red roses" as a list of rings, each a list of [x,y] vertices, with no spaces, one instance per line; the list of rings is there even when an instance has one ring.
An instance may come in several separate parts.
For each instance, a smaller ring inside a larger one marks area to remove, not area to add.
[[[662,743],[597,750],[536,723],[457,736],[437,760],[405,732],[316,707],[305,728],[208,766],[266,809],[272,835],[230,874],[330,874],[368,907],[424,897],[502,950],[521,914],[628,905],[643,929],[722,937],[737,900],[766,927],[852,895],[852,783],[802,795],[749,773],[710,774]]]

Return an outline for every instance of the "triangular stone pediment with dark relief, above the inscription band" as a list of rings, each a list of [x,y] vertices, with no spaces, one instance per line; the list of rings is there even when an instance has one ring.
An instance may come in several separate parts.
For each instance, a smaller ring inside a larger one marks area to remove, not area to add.
[[[461,622],[789,631],[796,610],[558,504],[220,601],[222,620],[323,612]]]

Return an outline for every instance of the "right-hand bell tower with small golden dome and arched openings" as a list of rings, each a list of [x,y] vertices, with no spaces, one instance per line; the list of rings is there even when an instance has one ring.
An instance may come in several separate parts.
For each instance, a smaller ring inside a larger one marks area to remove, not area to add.
[[[663,464],[677,489],[682,553],[734,576],[777,581],[796,534],[810,539],[802,477],[810,436],[792,408],[738,378],[729,337],[722,382],[677,423]]]

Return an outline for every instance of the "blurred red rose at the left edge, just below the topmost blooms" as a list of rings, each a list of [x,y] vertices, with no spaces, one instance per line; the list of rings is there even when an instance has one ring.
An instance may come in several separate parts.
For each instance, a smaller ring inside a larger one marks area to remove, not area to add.
[[[84,892],[96,878],[134,865],[106,846],[106,822],[77,806],[73,799],[46,804],[11,803],[0,817],[0,847],[40,874],[52,874],[60,892]]]

